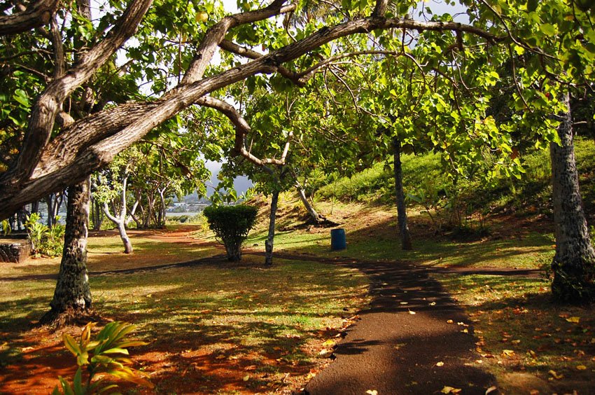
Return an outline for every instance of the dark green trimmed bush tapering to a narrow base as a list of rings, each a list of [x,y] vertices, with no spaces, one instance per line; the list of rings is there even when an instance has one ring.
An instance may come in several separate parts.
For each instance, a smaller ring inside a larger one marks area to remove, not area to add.
[[[221,240],[229,261],[241,260],[241,243],[254,226],[258,209],[248,205],[209,206],[204,209],[209,228]]]

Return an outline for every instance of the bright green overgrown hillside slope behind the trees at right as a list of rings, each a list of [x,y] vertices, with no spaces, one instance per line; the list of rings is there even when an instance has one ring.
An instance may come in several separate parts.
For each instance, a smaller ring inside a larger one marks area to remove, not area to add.
[[[575,142],[577,166],[580,174],[581,190],[585,209],[589,214],[595,212],[595,144],[593,141],[579,139]],[[526,173],[522,179],[501,177],[491,185],[481,181],[459,181],[458,200],[465,202],[467,212],[551,212],[549,185],[551,167],[549,151],[534,151],[524,155]],[[402,158],[403,183],[405,194],[442,198],[442,205],[451,181],[447,178],[440,156],[404,155]],[[378,163],[370,169],[330,183],[317,191],[324,200],[337,199],[342,202],[377,202],[390,204],[393,201],[393,170],[384,163]],[[468,213],[470,214],[470,213]]]

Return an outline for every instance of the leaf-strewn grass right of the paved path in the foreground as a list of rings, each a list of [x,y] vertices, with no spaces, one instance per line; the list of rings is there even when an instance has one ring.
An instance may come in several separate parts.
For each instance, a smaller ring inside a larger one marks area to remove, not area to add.
[[[549,284],[542,279],[437,278],[465,307],[475,326],[480,360],[509,387],[505,391],[516,393],[519,389],[510,377],[523,373],[536,377],[535,382],[550,392],[592,393],[595,313],[591,307],[552,303]]]

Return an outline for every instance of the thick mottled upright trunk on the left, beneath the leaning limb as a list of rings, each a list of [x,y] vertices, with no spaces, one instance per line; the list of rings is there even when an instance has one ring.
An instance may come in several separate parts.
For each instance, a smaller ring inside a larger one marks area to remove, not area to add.
[[[91,291],[87,275],[87,229],[89,226],[90,179],[69,187],[66,206],[64,252],[51,310],[42,324],[62,326],[88,318]]]

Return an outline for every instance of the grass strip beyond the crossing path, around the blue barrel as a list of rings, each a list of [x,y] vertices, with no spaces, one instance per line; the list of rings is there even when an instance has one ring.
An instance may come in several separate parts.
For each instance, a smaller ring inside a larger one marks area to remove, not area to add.
[[[394,224],[384,224],[382,227]],[[395,230],[396,232],[396,230]],[[264,231],[255,232],[246,245],[258,244],[264,249]],[[537,269],[551,261],[554,249],[552,237],[527,232],[518,237],[500,240],[456,242],[445,237],[414,238],[414,250],[402,251],[396,235],[374,235],[374,230],[350,230],[346,226],[347,248],[330,250],[330,230],[316,233],[277,232],[275,251],[313,254],[325,258],[353,258],[365,261],[413,261],[421,265],[456,268],[524,268]]]

